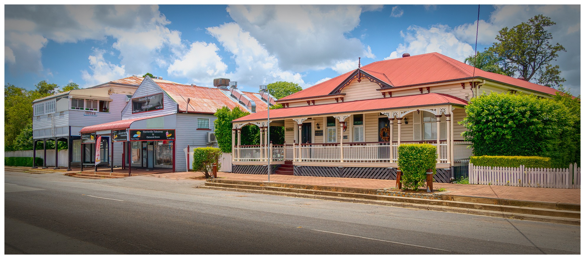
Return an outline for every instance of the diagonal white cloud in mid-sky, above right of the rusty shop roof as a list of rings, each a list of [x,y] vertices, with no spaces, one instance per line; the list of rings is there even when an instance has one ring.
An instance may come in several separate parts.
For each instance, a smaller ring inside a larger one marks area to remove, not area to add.
[[[250,89],[247,91],[255,91],[257,85],[275,81],[305,84],[301,74],[281,69],[278,66],[278,58],[271,55],[238,24],[225,23],[221,26],[209,27],[207,30],[226,51],[233,54],[236,68],[234,72],[226,74],[226,77],[238,81],[238,85],[242,85],[242,88],[249,85]]]

